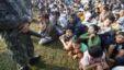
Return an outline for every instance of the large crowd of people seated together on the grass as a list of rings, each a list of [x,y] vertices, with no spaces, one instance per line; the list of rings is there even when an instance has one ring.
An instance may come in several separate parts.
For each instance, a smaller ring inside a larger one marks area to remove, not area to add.
[[[124,69],[123,0],[38,0],[36,4],[40,44],[59,38],[67,55],[79,59],[80,70]]]

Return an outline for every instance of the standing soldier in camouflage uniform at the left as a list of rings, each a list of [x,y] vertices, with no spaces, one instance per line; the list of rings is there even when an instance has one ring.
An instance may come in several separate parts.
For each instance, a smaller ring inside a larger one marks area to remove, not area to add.
[[[29,22],[32,20],[31,0],[0,0],[0,32],[19,70],[31,70],[40,57],[34,57],[32,32]]]

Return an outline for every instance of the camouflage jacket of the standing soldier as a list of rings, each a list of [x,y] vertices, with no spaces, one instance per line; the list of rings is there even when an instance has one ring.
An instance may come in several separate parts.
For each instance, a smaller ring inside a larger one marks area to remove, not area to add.
[[[0,30],[15,28],[32,20],[31,0],[0,0]]]

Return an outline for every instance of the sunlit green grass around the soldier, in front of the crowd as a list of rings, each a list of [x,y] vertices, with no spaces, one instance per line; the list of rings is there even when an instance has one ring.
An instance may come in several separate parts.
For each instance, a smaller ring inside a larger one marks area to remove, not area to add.
[[[31,28],[37,31],[37,24],[32,24]],[[59,40],[48,45],[38,45],[40,38],[32,37],[32,39],[35,52],[42,56],[41,62],[32,67],[33,70],[78,70],[78,60],[72,60],[67,56]],[[3,39],[0,39],[0,70],[16,70]]]

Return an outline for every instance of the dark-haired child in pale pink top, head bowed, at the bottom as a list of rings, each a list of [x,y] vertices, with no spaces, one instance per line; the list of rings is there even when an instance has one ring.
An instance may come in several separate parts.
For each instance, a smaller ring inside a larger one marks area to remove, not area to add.
[[[83,54],[83,57],[80,60],[80,70],[105,70],[109,68],[105,61],[104,51],[97,47],[92,46],[88,51]]]

